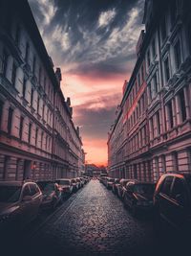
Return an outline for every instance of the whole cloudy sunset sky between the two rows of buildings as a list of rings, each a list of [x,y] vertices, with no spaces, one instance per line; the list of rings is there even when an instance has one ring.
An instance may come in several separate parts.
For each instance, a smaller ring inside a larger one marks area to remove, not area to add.
[[[107,132],[131,76],[144,0],[29,0],[62,91],[71,97],[87,163],[107,165]]]

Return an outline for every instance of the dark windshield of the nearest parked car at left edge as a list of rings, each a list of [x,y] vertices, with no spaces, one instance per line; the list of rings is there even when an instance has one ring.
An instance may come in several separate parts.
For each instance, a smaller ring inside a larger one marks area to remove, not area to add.
[[[21,186],[1,186],[0,202],[16,202],[21,194]]]

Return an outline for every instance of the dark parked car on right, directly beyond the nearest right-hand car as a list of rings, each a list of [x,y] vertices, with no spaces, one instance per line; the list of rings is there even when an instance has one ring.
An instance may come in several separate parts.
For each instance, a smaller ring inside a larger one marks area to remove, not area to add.
[[[140,210],[151,211],[153,209],[154,191],[154,183],[129,181],[126,185],[123,201],[134,215]]]

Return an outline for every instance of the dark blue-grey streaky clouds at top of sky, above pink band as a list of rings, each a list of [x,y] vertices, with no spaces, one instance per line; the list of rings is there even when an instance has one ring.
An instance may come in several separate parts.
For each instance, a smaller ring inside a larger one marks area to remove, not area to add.
[[[50,55],[66,72],[121,74],[132,69],[128,61],[135,58],[143,0],[30,0],[30,4]]]

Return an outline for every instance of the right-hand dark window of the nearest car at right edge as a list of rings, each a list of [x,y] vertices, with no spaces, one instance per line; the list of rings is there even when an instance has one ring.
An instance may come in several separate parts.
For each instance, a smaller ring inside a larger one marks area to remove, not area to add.
[[[183,180],[179,177],[176,177],[175,179],[171,197],[177,200],[180,204],[185,203],[185,186]]]

